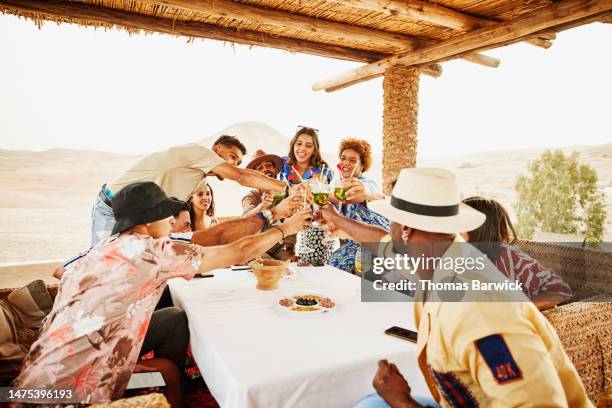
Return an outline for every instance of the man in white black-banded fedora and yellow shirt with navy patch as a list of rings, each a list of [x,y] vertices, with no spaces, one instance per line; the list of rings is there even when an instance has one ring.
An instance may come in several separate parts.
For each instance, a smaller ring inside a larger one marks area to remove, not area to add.
[[[403,169],[391,197],[371,207],[392,222],[394,251],[401,251],[402,245],[426,244],[448,248],[443,257],[453,245],[467,248],[465,243],[454,244],[461,241],[458,234],[478,228],[485,220],[484,214],[461,203],[455,176],[442,169]],[[333,206],[326,206],[320,214],[332,230],[340,229],[362,244],[388,239],[386,231],[344,218]],[[479,276],[495,281],[501,273],[488,260],[485,266]],[[419,268],[416,272],[416,279],[435,281],[440,269]],[[518,301],[477,299],[487,303],[473,299],[449,302],[417,289],[418,364],[438,404],[593,406],[554,328],[533,303],[521,301],[521,295]],[[423,406],[387,360],[379,362],[373,385],[378,395],[361,400],[359,408]]]

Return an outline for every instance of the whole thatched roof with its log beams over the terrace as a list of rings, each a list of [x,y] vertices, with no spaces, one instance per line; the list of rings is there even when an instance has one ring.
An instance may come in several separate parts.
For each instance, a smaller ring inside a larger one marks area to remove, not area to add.
[[[534,21],[537,29],[506,35],[488,48],[517,41],[548,48],[556,31],[609,21],[610,10],[611,0],[0,0],[0,12],[37,24],[50,20],[161,32],[361,62],[406,55],[497,26],[503,31],[503,24],[520,20]],[[472,49],[478,50],[478,45]],[[490,67],[499,64],[470,50],[446,53],[439,61],[452,58]],[[408,65],[437,76],[439,61],[430,58]]]

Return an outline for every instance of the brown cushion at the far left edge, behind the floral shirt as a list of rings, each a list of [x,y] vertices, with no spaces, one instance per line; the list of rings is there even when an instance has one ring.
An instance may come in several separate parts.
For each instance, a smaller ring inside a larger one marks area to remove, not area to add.
[[[42,319],[52,305],[42,280],[0,299],[0,386],[9,385],[19,374],[21,362],[38,338]]]

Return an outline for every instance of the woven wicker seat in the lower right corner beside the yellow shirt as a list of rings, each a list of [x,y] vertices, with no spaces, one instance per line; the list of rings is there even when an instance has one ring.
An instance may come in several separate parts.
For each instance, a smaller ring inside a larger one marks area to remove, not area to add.
[[[543,313],[557,330],[591,401],[612,394],[612,295]]]

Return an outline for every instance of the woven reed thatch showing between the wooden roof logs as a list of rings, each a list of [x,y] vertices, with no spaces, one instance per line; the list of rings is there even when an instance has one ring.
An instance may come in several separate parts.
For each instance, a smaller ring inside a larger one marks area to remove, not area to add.
[[[390,43],[386,43],[385,45],[384,42],[374,44],[358,36],[347,35],[339,37],[325,30],[308,29],[307,26],[300,26],[299,24],[278,25],[272,24],[269,21],[264,21],[263,19],[255,19],[247,15],[245,15],[244,18],[235,18],[236,16],[229,15],[228,13],[206,13],[199,11],[196,7],[190,7],[188,4],[189,2],[175,2],[175,6],[172,6],[173,2],[142,0],[55,0],[54,3],[61,6],[56,7],[56,9],[59,10],[57,13],[51,13],[48,12],[47,9],[39,7],[32,7],[31,4],[36,5],[36,2],[18,0],[0,2],[0,11],[32,19],[38,25],[43,21],[55,21],[58,23],[70,22],[93,27],[120,28],[130,32],[138,32],[141,30],[144,32],[157,31],[148,27],[147,24],[144,23],[146,20],[138,19],[139,16],[144,16],[174,22],[177,26],[181,23],[206,24],[242,32],[265,33],[266,35],[286,37],[297,41],[307,40],[387,54],[399,52],[407,48],[401,46],[402,36],[443,40],[461,33],[460,31],[448,27],[424,21],[416,21],[409,16],[352,7],[349,2],[331,0],[241,0],[235,1],[234,3],[258,7],[264,10],[278,10],[299,14],[314,19],[342,23],[347,26],[365,27],[378,30],[381,33],[396,33],[400,41],[397,45],[392,45]],[[435,3],[465,12],[466,14],[469,13],[470,15],[482,16],[492,21],[502,21],[547,6],[551,1],[533,0],[526,2],[523,0],[498,0],[482,2],[447,0]],[[71,11],[87,11],[96,8],[126,13],[126,17],[134,17],[132,19],[133,24],[130,24],[129,18],[126,18],[124,21],[112,21],[112,19],[106,19],[106,21],[104,21],[104,19],[97,18],[90,13],[74,13]],[[223,15],[225,15],[225,17]],[[177,32],[177,35],[183,34]]]

